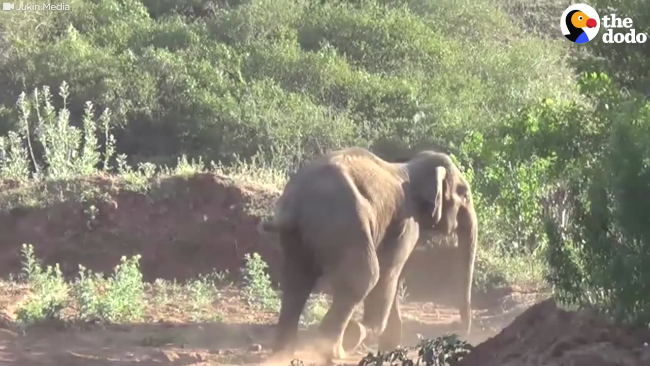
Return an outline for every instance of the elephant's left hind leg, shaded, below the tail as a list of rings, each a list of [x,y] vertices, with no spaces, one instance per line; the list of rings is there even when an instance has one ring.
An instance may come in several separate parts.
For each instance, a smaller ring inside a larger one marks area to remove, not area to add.
[[[276,335],[276,357],[291,358],[298,337],[298,322],[307,298],[320,276],[313,254],[299,245],[297,234],[281,234],[285,261],[281,278],[281,306]]]

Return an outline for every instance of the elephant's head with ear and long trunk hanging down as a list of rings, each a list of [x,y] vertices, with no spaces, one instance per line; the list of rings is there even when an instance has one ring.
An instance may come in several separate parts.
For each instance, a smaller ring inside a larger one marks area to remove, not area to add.
[[[476,255],[478,222],[469,183],[446,154],[424,151],[406,163],[411,198],[421,231],[456,232],[462,267],[463,296],[460,315],[463,330],[471,326],[471,286]]]

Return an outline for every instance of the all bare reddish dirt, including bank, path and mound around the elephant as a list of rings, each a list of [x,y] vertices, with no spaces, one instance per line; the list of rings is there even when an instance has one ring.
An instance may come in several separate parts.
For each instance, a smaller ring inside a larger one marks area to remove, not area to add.
[[[18,272],[20,246],[30,243],[37,257],[46,264],[59,262],[70,275],[76,274],[79,263],[110,272],[122,255],[136,253],[142,255],[142,272],[149,281],[188,279],[213,269],[237,275],[244,254],[257,251],[277,280],[281,253],[269,238],[259,236],[259,218],[246,206],[270,206],[278,191],[213,174],[169,178],[148,195],[120,191],[110,178],[98,177],[94,184],[107,188],[110,198],[94,203],[99,215],[92,222],[84,212],[90,203],[0,213],[0,275]],[[450,282],[454,276],[448,274],[454,253],[452,247],[429,249],[409,260],[404,345],[414,345],[417,333],[435,337],[456,329],[458,311],[444,301],[456,296],[450,290],[456,286]],[[25,294],[25,289],[0,284],[0,364],[257,365],[268,356],[277,321],[274,314],[248,307],[232,290],[219,300],[221,323],[197,324],[181,316],[105,328],[40,326],[25,332],[13,323]],[[560,311],[542,302],[545,298],[515,289],[476,296],[469,341],[476,345],[496,337],[479,345],[459,366],[578,366],[587,361],[589,366],[650,365],[643,346],[650,341],[647,333],[622,330],[584,312]],[[362,356],[353,354],[341,362],[355,365]]]

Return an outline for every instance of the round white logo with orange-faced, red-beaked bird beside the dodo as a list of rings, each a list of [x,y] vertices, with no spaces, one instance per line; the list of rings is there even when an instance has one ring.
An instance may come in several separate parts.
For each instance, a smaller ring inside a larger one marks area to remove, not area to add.
[[[562,13],[560,29],[571,42],[587,43],[598,35],[601,22],[594,8],[586,4],[573,4]]]

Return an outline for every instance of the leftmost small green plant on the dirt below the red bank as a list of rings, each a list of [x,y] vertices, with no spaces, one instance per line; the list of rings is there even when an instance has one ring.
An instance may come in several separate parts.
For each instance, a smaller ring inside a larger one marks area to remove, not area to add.
[[[42,320],[60,320],[62,309],[68,302],[68,285],[61,273],[59,264],[43,268],[31,244],[23,244],[23,279],[32,290],[32,297],[19,308],[19,322],[32,324]]]

